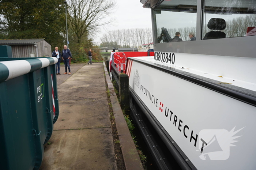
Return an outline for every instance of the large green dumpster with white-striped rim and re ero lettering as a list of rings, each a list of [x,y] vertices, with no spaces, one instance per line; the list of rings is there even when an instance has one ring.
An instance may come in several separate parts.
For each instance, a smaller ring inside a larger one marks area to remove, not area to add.
[[[0,169],[39,169],[59,115],[55,63],[0,57]]]

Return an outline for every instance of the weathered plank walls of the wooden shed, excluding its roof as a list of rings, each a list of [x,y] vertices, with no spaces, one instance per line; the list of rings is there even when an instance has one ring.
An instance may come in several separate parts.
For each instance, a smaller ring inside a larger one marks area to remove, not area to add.
[[[37,42],[38,57],[51,57],[52,47],[45,40]],[[12,57],[13,58],[26,58],[30,57],[30,54],[34,54],[37,57],[37,48],[34,44],[28,45],[11,45],[12,47]]]

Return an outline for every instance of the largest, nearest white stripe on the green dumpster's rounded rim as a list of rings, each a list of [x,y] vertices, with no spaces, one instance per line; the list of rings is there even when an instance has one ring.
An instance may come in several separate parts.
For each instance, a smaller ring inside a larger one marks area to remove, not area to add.
[[[15,60],[0,63],[4,64],[9,70],[9,76],[5,81],[27,74],[31,70],[31,65],[26,60]]]

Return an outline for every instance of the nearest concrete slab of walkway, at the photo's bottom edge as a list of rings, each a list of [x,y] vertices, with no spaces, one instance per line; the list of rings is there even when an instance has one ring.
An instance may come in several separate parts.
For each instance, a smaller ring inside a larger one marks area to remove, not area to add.
[[[53,131],[41,170],[116,170],[110,128]]]

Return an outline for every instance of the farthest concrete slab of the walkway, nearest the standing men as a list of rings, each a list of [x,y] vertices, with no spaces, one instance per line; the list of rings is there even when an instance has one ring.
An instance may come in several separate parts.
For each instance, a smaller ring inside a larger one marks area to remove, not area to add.
[[[105,99],[103,64],[85,65],[58,87],[59,101]]]

